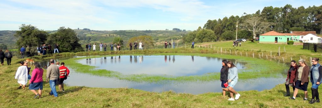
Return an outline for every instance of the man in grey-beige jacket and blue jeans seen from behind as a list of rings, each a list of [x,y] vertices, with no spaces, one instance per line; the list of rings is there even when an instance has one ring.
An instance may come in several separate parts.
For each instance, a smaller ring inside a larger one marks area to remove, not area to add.
[[[46,74],[46,82],[49,80],[50,88],[52,89],[49,93],[49,95],[54,95],[55,97],[58,97],[57,91],[56,91],[56,82],[59,78],[59,67],[55,65],[55,61],[53,59],[50,59],[49,61],[50,66],[47,68],[47,74]]]

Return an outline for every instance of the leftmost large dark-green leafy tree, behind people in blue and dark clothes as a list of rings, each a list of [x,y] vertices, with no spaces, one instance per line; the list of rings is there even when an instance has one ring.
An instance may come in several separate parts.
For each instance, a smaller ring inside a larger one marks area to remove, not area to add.
[[[16,42],[18,48],[26,45],[37,47],[43,44],[48,36],[47,32],[39,30],[37,27],[32,25],[22,24],[19,26],[19,29],[20,30],[14,34],[14,36],[18,38]]]

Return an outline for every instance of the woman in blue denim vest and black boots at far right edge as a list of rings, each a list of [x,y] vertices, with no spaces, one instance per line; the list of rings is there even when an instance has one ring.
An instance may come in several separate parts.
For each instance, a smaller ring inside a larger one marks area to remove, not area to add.
[[[322,78],[322,66],[319,64],[318,58],[312,58],[312,67],[310,70],[311,73],[311,82],[312,82],[312,99],[309,102],[310,104],[313,104],[315,102],[320,102],[319,98],[319,92],[317,91],[319,85],[321,84],[321,78]],[[315,100],[316,99],[316,100]]]

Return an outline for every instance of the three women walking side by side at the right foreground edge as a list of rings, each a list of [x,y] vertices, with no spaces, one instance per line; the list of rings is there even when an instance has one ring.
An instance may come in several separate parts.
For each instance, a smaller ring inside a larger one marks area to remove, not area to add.
[[[319,103],[319,93],[318,86],[322,81],[322,66],[318,63],[319,58],[312,58],[312,66],[311,68],[305,63],[305,60],[298,60],[298,64],[295,60],[291,61],[291,65],[289,67],[289,71],[287,74],[285,87],[286,94],[284,96],[290,96],[289,86],[293,88],[293,96],[289,97],[289,99],[295,100],[296,95],[298,94],[298,89],[304,91],[303,100],[308,100],[308,82],[311,81],[312,87],[312,99],[310,100],[310,104]],[[308,76],[310,75],[310,80]]]

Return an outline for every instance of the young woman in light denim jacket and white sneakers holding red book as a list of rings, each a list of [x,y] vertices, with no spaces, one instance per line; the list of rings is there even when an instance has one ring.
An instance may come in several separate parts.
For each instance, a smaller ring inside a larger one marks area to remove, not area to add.
[[[238,100],[241,95],[233,89],[238,81],[237,67],[231,61],[227,62],[227,66],[229,67],[228,68],[228,87],[229,87],[228,90],[231,96],[231,98],[228,100],[230,101]],[[234,99],[234,94],[236,95],[235,99]]]

